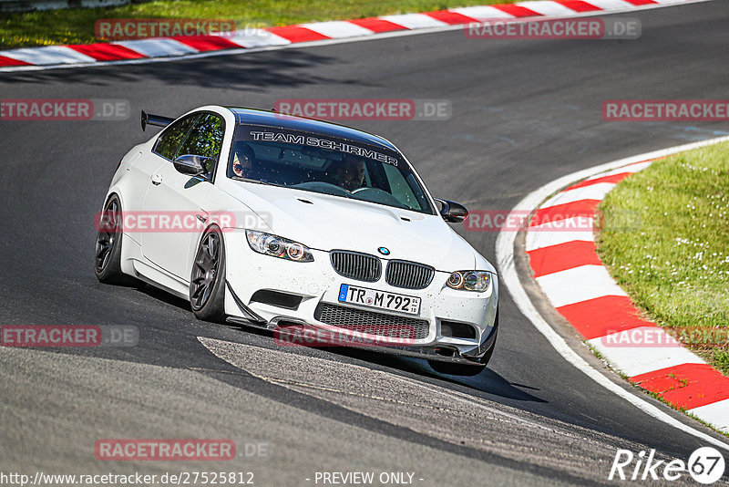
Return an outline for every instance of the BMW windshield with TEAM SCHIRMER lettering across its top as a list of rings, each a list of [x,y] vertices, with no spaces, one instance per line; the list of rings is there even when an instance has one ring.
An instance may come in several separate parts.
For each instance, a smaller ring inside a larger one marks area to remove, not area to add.
[[[434,214],[394,150],[272,127],[236,127],[228,177]]]

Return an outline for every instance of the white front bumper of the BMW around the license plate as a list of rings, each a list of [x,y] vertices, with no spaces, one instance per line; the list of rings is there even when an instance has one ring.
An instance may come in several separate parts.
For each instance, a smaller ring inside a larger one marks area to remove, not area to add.
[[[449,272],[439,271],[436,271],[432,282],[425,289],[405,289],[385,283],[385,273],[374,283],[338,275],[328,252],[312,250],[313,262],[298,263],[253,252],[243,231],[228,231],[225,233],[225,240],[225,312],[231,321],[272,329],[282,325],[311,326],[326,330],[334,327],[344,334],[350,333],[333,323],[317,319],[317,316],[322,316],[322,306],[340,306],[346,308],[345,312],[361,310],[378,314],[385,324],[389,318],[396,323],[409,323],[413,318],[424,322],[424,331],[414,339],[402,343],[388,342],[385,347],[369,345],[369,349],[408,357],[473,364],[493,347],[498,326],[496,275],[491,279],[489,288],[482,293],[447,287]],[[386,259],[382,261],[384,267]],[[420,311],[415,316],[370,306],[340,303],[338,295],[342,284],[419,297]],[[294,307],[252,299],[261,291],[298,296],[300,302]],[[452,332],[455,326],[458,329],[467,329],[468,333],[453,336],[457,335]],[[376,336],[363,336],[377,342]]]

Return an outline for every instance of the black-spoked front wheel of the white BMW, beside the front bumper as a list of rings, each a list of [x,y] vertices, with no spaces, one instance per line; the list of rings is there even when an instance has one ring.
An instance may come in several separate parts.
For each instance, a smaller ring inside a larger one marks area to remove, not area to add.
[[[220,323],[225,318],[225,244],[221,229],[202,235],[190,275],[190,306],[195,317]]]

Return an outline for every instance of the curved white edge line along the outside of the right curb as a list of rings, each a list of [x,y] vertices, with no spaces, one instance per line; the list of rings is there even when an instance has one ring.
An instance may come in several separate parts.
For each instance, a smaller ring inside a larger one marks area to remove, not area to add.
[[[586,170],[573,172],[571,174],[561,177],[560,179],[549,182],[549,184],[542,186],[534,192],[530,192],[523,200],[517,203],[513,211],[533,211],[539,206],[539,202],[544,201],[553,192],[560,190],[560,188],[564,188],[573,181],[580,181],[581,179],[593,176],[601,171],[611,171],[626,164],[647,161],[649,159],[655,159],[658,157],[665,157],[676,152],[681,152],[683,150],[691,150],[699,147],[705,147],[726,140],[729,140],[729,137],[722,137],[713,140],[703,140],[701,142],[672,147],[669,149],[654,150],[652,152],[640,154],[627,159],[622,159],[620,161],[612,161]],[[623,389],[621,386],[613,382],[611,378],[603,375],[596,368],[590,366],[590,364],[584,358],[580,357],[580,355],[578,355],[577,352],[575,352],[567,344],[564,338],[560,337],[560,335],[554,330],[554,328],[549,325],[544,317],[539,314],[539,311],[537,311],[537,308],[534,307],[531,300],[529,299],[529,295],[527,295],[526,290],[521,285],[521,282],[519,281],[519,275],[517,274],[517,269],[514,264],[514,243],[516,241],[516,238],[516,232],[502,230],[498,233],[496,243],[496,255],[498,269],[500,271],[499,274],[501,276],[501,280],[508,289],[509,295],[511,295],[514,303],[519,308],[521,314],[526,316],[529,321],[531,321],[531,323],[537,328],[539,333],[547,338],[549,344],[554,347],[554,349],[557,350],[557,352],[562,357],[564,357],[565,360],[575,366],[575,368],[578,368],[581,372],[583,372],[589,378],[593,379],[605,389],[610,390],[612,393],[630,402],[636,408],[641,409],[644,413],[652,416],[653,418],[656,418],[657,420],[662,420],[663,422],[673,426],[677,430],[682,430],[695,436],[696,438],[699,438],[724,450],[729,451],[729,444],[726,444],[722,440],[715,439],[714,437],[707,435],[703,431],[696,430],[693,427],[683,424],[683,422],[679,420],[676,420],[665,411],[657,408],[645,399],[639,398],[631,391]]]

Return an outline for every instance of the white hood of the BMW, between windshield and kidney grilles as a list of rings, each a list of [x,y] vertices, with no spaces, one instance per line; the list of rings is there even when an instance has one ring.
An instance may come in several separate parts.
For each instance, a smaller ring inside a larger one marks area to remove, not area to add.
[[[312,249],[377,255],[385,247],[388,258],[444,272],[485,262],[439,215],[250,182],[231,181],[226,191],[256,212],[273,233]]]

